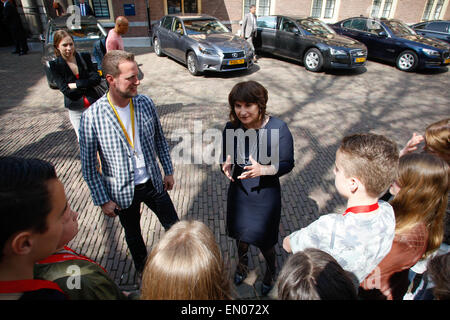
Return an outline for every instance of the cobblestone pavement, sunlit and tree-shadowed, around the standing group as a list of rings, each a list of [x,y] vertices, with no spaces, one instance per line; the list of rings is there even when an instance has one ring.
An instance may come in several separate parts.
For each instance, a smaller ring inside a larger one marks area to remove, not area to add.
[[[54,163],[72,208],[79,212],[80,231],[70,246],[105,266],[123,289],[139,289],[119,220],[106,217],[92,204],[63,96],[47,86],[40,52],[19,57],[10,51],[0,48],[0,155],[39,157]],[[332,172],[343,136],[372,131],[402,146],[412,132],[421,133],[450,114],[447,68],[404,73],[369,61],[360,70],[310,73],[296,63],[264,56],[249,72],[193,77],[183,65],[157,57],[151,48],[130,51],[144,73],[140,93],[156,103],[172,148],[178,143],[176,129],[193,132],[194,121],[201,121],[203,131],[222,130],[228,93],[237,82],[256,80],[268,89],[268,111],[287,122],[295,142],[295,168],[281,179],[277,271],[287,258],[281,248],[284,236],[345,204],[336,193]],[[180,218],[201,220],[214,231],[232,275],[236,248],[225,233],[227,180],[217,165],[175,163],[175,169],[176,185],[170,196]],[[164,231],[145,206],[141,223],[150,251]],[[236,297],[261,299],[265,263],[254,247],[249,267],[251,273],[236,289]]]

